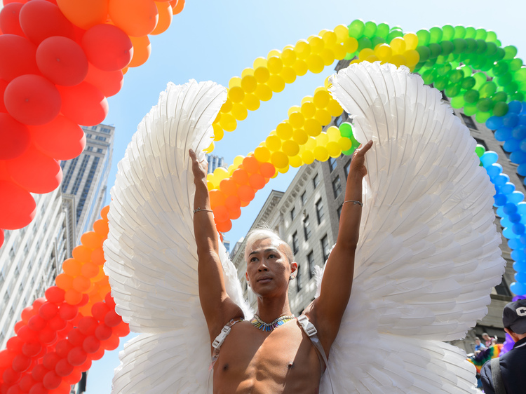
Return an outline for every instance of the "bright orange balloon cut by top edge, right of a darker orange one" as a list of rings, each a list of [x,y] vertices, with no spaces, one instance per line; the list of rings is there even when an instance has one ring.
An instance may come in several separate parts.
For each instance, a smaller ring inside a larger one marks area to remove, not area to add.
[[[112,22],[133,37],[150,34],[159,20],[154,0],[109,0],[108,11]]]

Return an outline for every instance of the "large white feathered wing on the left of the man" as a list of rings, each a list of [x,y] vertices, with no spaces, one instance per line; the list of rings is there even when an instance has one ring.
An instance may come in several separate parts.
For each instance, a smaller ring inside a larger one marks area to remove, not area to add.
[[[210,339],[199,304],[188,150],[210,144],[227,99],[213,82],[168,84],[119,163],[104,243],[116,311],[133,339],[121,354],[115,393],[204,393]],[[229,296],[250,318],[234,264],[220,245]]]

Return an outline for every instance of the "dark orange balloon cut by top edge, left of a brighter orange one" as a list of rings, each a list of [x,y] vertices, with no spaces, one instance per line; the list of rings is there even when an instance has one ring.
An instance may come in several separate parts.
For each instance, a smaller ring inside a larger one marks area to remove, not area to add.
[[[57,5],[70,22],[85,30],[108,17],[107,0],[57,0]]]

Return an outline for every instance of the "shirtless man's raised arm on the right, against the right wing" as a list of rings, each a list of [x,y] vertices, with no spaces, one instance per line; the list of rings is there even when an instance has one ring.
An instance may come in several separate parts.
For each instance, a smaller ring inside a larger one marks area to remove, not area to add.
[[[358,245],[362,215],[362,180],[367,175],[365,153],[372,141],[360,146],[353,154],[347,177],[345,202],[339,218],[336,245],[330,252],[321,281],[320,297],[306,314],[316,320],[320,340],[326,351],[338,334],[345,308],[351,295],[354,274],[354,254]]]

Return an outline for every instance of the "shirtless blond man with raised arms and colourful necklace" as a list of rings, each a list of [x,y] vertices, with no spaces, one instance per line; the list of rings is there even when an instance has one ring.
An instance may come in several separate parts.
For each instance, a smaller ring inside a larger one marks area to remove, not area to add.
[[[358,243],[362,179],[367,174],[365,153],[372,141],[356,150],[347,177],[345,201],[339,221],[337,243],[330,253],[321,284],[320,297],[304,311],[318,330],[318,338],[329,355],[338,334],[345,308],[351,295],[354,254]],[[190,151],[195,175],[196,195],[194,231],[198,252],[198,283],[201,306],[213,342],[229,321],[243,318],[224,285],[218,239],[206,186],[206,164],[199,163]],[[248,236],[245,250],[246,279],[257,295],[257,316],[271,323],[292,315],[288,286],[295,277],[297,263],[292,261],[290,246],[269,231],[269,236]],[[286,320],[286,319],[285,319]],[[325,365],[318,359],[316,348],[296,319],[263,331],[250,321],[231,327],[220,348],[214,366],[213,392],[220,393],[318,393]]]

